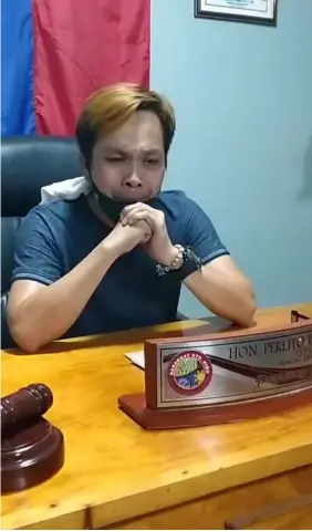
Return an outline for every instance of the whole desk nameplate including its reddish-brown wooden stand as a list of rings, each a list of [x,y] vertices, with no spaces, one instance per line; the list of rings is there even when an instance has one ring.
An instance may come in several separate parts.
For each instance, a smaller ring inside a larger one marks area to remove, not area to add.
[[[118,398],[146,429],[257,418],[312,402],[312,319],[149,340],[144,345],[145,393]]]

